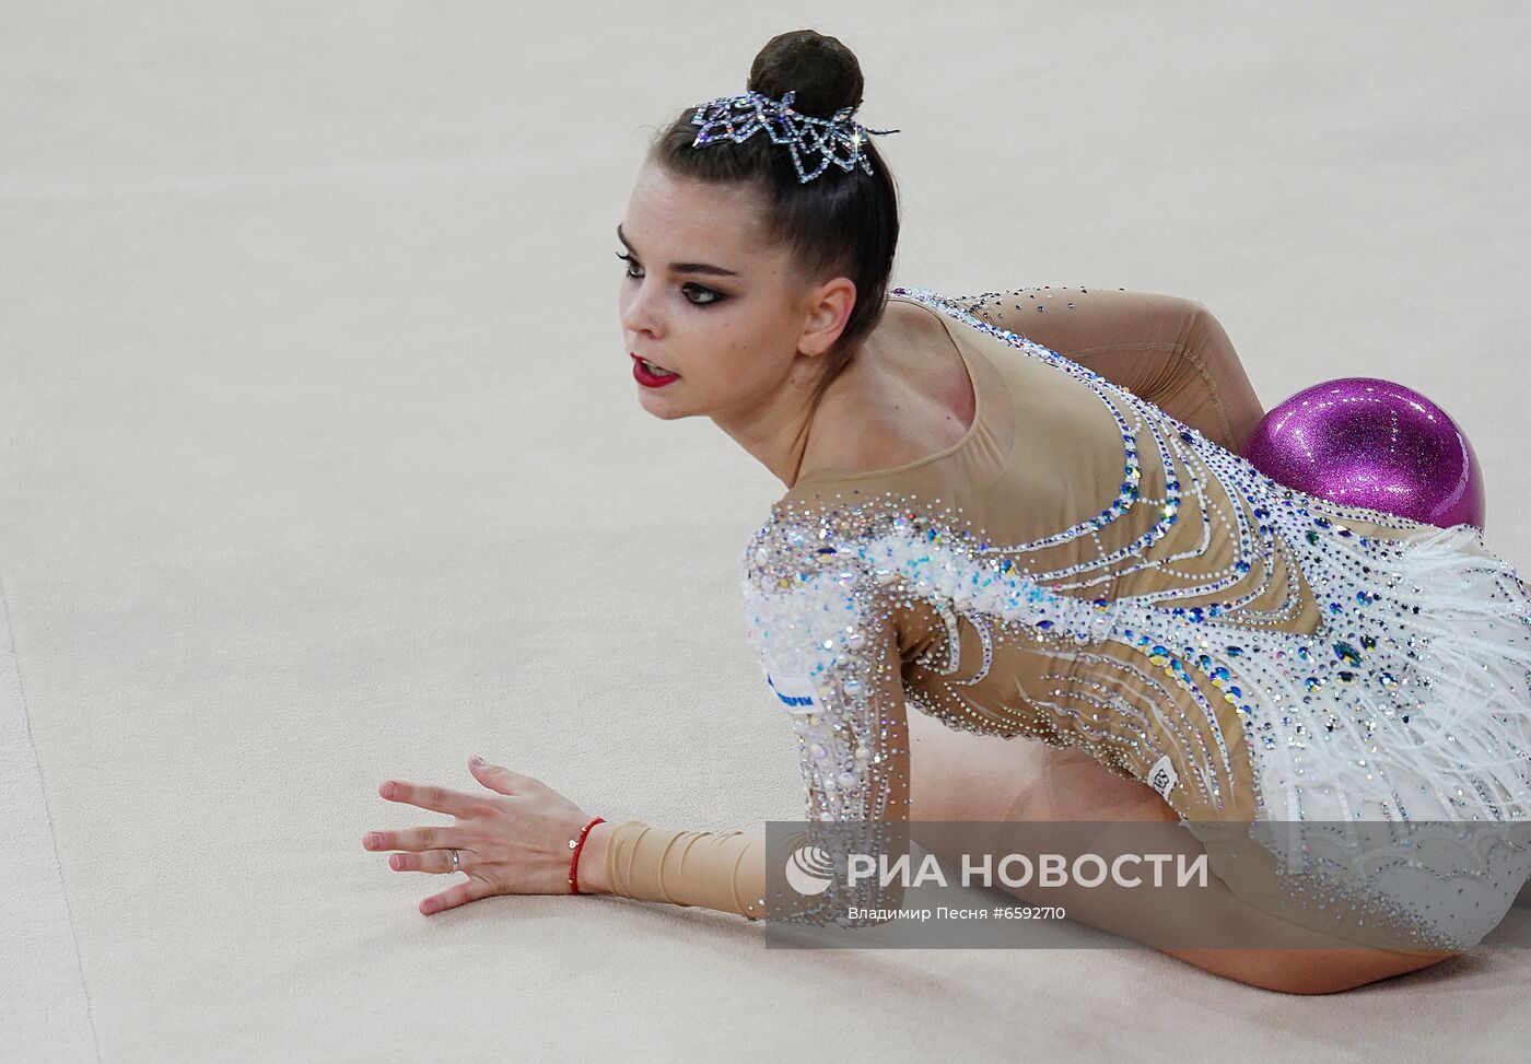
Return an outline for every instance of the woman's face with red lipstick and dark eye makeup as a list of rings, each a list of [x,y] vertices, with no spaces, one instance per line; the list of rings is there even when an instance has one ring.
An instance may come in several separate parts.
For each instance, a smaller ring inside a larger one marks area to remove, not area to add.
[[[805,283],[759,233],[761,211],[750,185],[675,178],[652,162],[638,173],[617,227],[617,308],[628,372],[655,416],[707,415],[762,438],[759,423],[782,397],[822,372],[818,355],[844,329],[854,285]]]

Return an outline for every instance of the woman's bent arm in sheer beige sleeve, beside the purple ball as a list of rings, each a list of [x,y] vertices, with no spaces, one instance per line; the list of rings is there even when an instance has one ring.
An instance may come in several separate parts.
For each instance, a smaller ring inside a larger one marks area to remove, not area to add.
[[[963,297],[971,314],[1095,370],[1242,452],[1265,409],[1203,303],[1112,288],[1024,288]]]

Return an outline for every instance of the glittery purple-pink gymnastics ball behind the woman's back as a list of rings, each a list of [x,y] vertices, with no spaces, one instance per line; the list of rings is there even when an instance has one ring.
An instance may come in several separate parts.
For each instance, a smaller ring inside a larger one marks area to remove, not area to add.
[[[1376,377],[1306,387],[1255,426],[1243,456],[1275,482],[1430,525],[1484,527],[1473,446],[1413,389]]]

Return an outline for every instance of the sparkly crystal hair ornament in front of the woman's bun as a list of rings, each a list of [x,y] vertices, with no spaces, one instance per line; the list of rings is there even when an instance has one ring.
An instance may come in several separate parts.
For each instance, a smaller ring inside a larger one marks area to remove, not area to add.
[[[692,126],[701,126],[697,139],[690,142],[694,149],[718,144],[721,141],[741,141],[766,130],[772,141],[785,144],[792,152],[792,164],[798,168],[799,184],[813,181],[833,162],[845,173],[859,164],[868,175],[871,164],[862,153],[862,144],[868,135],[897,133],[896,129],[867,129],[853,121],[856,107],[841,107],[830,118],[813,118],[801,115],[792,109],[792,101],[798,95],[796,89],[788,89],[781,100],[772,100],[759,92],[743,92],[736,96],[717,96],[697,107],[690,116]],[[723,127],[724,132],[715,132]],[[836,155],[842,149],[844,155]],[[813,153],[821,156],[813,173],[802,168],[802,156]]]

